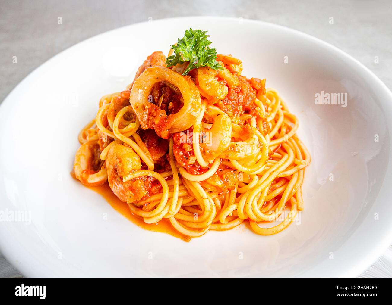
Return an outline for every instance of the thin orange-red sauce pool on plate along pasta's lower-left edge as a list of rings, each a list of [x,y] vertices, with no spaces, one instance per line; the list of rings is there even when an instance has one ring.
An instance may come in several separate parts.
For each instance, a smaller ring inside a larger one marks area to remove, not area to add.
[[[182,235],[178,231],[176,231],[171,223],[169,222],[168,219],[163,218],[160,222],[157,224],[146,224],[142,218],[134,215],[131,213],[131,210],[128,208],[128,205],[121,201],[120,199],[117,198],[116,195],[112,192],[112,190],[109,187],[109,184],[105,183],[101,186],[88,186],[89,189],[92,189],[94,192],[102,195],[103,198],[109,204],[112,206],[113,209],[115,209],[117,212],[119,212],[121,215],[124,217],[128,218],[136,224],[136,226],[141,227],[145,230],[149,231],[154,231],[154,232],[160,232],[160,233],[167,233],[170,234],[174,237],[181,238],[182,240],[189,242],[192,238],[189,236]]]

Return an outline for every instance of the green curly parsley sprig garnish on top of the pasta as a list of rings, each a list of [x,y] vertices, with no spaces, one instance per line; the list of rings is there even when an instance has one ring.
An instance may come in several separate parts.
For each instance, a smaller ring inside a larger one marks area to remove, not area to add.
[[[200,68],[210,67],[214,70],[222,70],[223,67],[216,61],[216,49],[210,48],[211,41],[207,38],[207,31],[186,30],[183,38],[178,38],[177,45],[172,45],[174,54],[166,59],[167,67],[182,64],[189,61],[187,69],[182,75],[187,75],[189,71]]]

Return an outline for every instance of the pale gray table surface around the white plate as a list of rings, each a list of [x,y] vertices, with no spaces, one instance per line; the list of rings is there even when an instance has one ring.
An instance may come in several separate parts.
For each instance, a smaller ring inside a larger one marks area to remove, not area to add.
[[[0,0],[0,16],[0,101],[36,67],[75,43],[149,18],[177,16],[250,18],[308,33],[347,52],[392,88],[391,0]],[[17,276],[22,275],[0,253],[0,277]],[[361,276],[392,277],[392,247]]]

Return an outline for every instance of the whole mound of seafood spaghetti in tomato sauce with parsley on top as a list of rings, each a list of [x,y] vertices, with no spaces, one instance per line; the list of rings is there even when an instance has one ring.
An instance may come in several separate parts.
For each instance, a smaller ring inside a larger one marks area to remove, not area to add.
[[[208,37],[187,30],[167,57],[148,56],[126,90],[100,99],[79,134],[73,175],[108,183],[136,217],[185,236],[245,221],[260,235],[278,233],[304,208],[310,155],[298,120]]]

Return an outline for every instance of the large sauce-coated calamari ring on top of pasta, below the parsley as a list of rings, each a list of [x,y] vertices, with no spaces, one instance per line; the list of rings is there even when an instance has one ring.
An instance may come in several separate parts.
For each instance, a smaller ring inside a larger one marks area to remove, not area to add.
[[[177,113],[162,115],[163,110],[148,102],[152,87],[158,81],[167,81],[180,90],[184,105]],[[162,66],[152,66],[140,74],[132,86],[129,101],[140,126],[143,129],[155,129],[164,139],[169,138],[169,134],[190,128],[195,123],[201,106],[199,90],[191,78]]]

